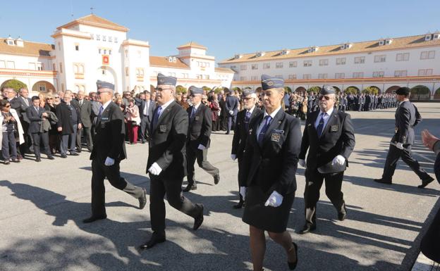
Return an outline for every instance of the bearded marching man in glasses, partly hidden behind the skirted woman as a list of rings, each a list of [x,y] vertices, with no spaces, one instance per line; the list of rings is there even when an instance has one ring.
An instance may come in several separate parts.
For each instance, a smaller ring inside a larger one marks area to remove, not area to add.
[[[240,170],[243,170],[243,154],[245,152],[247,137],[249,136],[250,127],[252,127],[255,120],[262,114],[262,111],[257,108],[257,94],[252,90],[243,92],[243,106],[244,109],[237,113],[237,124],[234,128],[234,135],[232,139],[231,159],[238,159],[238,189],[240,189]],[[240,201],[234,205],[233,208],[239,209],[245,203],[243,196],[238,193]]]

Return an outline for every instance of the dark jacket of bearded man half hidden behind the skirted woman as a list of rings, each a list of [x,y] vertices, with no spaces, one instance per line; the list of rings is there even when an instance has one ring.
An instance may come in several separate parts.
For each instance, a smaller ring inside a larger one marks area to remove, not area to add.
[[[234,135],[233,135],[233,139],[232,139],[231,154],[235,154],[237,156],[237,158],[243,157],[243,153],[245,151],[247,136],[249,135],[250,127],[252,127],[254,125],[254,122],[256,119],[258,119],[259,115],[261,115],[263,113],[263,111],[259,110],[259,108],[257,108],[257,106],[255,106],[254,111],[252,111],[252,114],[250,114],[249,125],[246,130],[246,125],[245,125],[246,111],[247,111],[247,109],[238,112],[237,124],[236,124],[236,127],[234,127]]]

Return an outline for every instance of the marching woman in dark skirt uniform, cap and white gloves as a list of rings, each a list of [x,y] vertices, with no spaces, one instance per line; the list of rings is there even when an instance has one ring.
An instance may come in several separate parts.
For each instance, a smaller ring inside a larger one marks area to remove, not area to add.
[[[286,250],[290,270],[298,263],[297,246],[286,227],[295,198],[301,131],[300,121],[281,110],[283,87],[282,79],[262,75],[265,111],[250,128],[240,170],[240,194],[246,201],[243,222],[250,226],[250,253],[257,271],[263,267],[264,231]]]

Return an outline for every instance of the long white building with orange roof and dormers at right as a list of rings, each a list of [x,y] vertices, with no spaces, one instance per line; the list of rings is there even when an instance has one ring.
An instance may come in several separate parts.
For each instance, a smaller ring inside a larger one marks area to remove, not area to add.
[[[234,70],[231,87],[260,86],[262,74],[282,77],[293,91],[331,84],[343,91],[424,86],[440,99],[440,33],[303,49],[238,54],[221,61]]]

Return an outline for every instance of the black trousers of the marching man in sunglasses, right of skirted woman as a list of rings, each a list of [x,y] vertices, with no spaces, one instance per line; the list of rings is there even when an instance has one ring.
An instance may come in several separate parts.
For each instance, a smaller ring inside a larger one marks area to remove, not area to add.
[[[305,170],[305,222],[307,225],[316,224],[316,205],[319,201],[319,190],[325,180],[326,195],[329,197],[331,203],[336,208],[338,213],[345,210],[346,203],[343,200],[343,193],[341,191],[343,172],[332,174],[321,174],[317,169]]]

